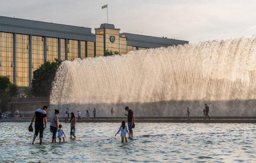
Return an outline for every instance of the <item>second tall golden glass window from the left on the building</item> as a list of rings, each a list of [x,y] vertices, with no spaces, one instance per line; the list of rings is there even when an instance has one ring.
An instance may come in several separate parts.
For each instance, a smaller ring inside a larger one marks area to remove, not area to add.
[[[29,86],[28,35],[17,34],[17,86]],[[33,58],[33,56],[32,56]],[[43,58],[42,58],[43,59]]]

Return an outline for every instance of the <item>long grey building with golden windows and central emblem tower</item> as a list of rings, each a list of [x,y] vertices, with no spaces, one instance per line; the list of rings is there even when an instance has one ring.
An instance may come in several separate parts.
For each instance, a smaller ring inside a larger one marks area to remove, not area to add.
[[[188,41],[119,33],[113,24],[95,28],[0,16],[0,74],[20,88],[31,86],[32,72],[46,61],[100,57],[104,50],[121,55],[140,50],[188,44]]]

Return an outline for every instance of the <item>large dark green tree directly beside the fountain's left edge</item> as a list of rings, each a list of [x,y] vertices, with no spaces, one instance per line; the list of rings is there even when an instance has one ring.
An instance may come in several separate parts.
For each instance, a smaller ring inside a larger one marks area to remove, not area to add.
[[[58,70],[58,62],[47,61],[33,72],[32,95],[48,97],[52,91],[52,83]]]

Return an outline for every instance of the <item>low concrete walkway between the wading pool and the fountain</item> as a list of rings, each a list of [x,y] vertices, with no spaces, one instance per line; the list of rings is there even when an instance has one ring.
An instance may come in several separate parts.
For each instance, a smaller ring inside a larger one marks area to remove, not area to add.
[[[135,123],[256,123],[256,116],[234,116],[234,117],[211,117],[210,120],[204,120],[202,117],[135,117]],[[15,118],[8,118],[0,120],[0,122],[31,122],[32,117],[25,117],[21,120],[15,120]],[[64,117],[59,117],[59,122],[64,122]],[[90,122],[118,122],[122,120],[127,121],[127,117],[96,117],[89,119]],[[83,118],[82,122],[86,120]],[[47,117],[47,122],[50,122],[50,117]]]

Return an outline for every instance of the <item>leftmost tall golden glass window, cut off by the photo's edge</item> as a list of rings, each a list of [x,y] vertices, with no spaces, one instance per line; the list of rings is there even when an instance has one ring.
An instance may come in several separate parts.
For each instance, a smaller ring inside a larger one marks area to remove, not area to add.
[[[13,83],[13,34],[0,32],[0,74],[2,76],[10,75],[10,81]]]

